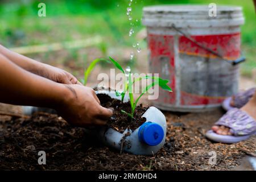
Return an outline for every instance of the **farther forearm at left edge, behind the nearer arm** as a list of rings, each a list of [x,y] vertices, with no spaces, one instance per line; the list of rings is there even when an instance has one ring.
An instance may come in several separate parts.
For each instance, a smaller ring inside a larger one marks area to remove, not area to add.
[[[19,53],[10,51],[9,49],[3,47],[2,45],[0,45],[0,54],[4,55],[5,57],[7,57],[7,59],[9,59],[10,61],[12,61],[13,63],[15,63],[16,65],[18,65],[19,67],[26,69],[26,71],[31,72],[31,73],[35,73],[36,75],[40,75],[40,67],[43,67],[43,63],[40,63],[39,61],[35,61],[33,59],[30,59],[29,57],[20,55]]]

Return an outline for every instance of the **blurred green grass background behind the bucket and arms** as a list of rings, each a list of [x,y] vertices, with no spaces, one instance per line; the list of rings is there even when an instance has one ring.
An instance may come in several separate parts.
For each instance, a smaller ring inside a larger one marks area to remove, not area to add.
[[[38,16],[38,3],[46,3],[47,17]],[[242,64],[241,73],[250,76],[256,68],[256,16],[253,1],[234,0],[133,0],[128,20],[126,9],[130,0],[102,1],[1,1],[0,0],[0,40],[6,47],[20,47],[35,44],[80,40],[100,35],[104,44],[101,51],[109,47],[131,47],[135,36],[129,37],[130,23],[134,23],[135,34],[142,30],[142,8],[158,4],[205,4],[237,5],[243,7],[246,19],[242,26],[242,50],[247,61]],[[138,21],[136,21],[138,20]],[[146,43],[142,46],[146,47]],[[142,47],[143,48],[143,47]],[[47,54],[46,54],[47,55]],[[76,52],[69,51],[76,59]],[[46,59],[46,57],[44,57]]]

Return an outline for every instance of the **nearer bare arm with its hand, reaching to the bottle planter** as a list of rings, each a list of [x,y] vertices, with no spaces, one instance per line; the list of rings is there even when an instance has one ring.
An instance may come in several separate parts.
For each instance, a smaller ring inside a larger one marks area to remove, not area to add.
[[[104,125],[112,110],[100,105],[91,88],[59,84],[28,72],[0,54],[0,102],[56,109],[77,126]]]

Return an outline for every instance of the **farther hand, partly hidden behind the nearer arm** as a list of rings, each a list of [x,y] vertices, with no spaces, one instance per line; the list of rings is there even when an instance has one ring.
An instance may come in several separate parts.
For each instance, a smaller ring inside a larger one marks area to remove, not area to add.
[[[52,67],[48,64],[40,64],[40,67],[35,71],[36,75],[48,78],[49,80],[61,84],[79,84],[82,85],[75,76],[64,71],[63,69]]]

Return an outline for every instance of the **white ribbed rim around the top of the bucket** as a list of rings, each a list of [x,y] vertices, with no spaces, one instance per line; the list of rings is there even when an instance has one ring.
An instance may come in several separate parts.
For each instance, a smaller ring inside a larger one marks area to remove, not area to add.
[[[217,6],[209,16],[208,5],[159,5],[143,8],[142,23],[147,27],[227,27],[244,23],[242,7]]]

